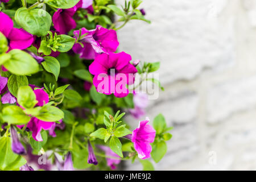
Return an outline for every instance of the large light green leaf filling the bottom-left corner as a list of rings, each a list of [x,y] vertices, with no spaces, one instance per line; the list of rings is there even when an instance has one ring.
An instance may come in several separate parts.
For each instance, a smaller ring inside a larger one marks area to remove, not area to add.
[[[0,171],[17,170],[27,163],[26,159],[11,150],[10,137],[0,137],[0,156]]]

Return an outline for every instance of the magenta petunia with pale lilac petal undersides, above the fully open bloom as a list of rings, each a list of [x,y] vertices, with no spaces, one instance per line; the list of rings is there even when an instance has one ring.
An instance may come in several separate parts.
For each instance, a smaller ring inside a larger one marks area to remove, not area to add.
[[[74,31],[76,40],[79,38],[80,31]],[[79,42],[73,46],[73,51],[84,59],[94,59],[97,54],[102,52],[115,52],[119,45],[117,32],[108,30],[101,26],[96,26],[94,30],[81,28],[81,37]]]

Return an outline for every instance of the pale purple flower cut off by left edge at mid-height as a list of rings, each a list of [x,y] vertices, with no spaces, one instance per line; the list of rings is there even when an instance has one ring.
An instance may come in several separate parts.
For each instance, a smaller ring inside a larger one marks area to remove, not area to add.
[[[1,97],[2,104],[14,104],[16,98],[9,92],[7,87],[8,78],[0,76],[0,94],[6,93]]]

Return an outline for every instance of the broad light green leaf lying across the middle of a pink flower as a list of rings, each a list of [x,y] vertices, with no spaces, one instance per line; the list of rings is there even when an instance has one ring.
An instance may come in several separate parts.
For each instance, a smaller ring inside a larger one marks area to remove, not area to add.
[[[40,110],[40,114],[35,116],[36,118],[46,121],[46,122],[55,122],[64,118],[64,113],[57,107],[44,105]]]

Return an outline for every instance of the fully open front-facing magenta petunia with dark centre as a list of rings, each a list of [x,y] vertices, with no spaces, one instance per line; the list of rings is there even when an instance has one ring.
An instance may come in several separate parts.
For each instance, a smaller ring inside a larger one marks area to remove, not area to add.
[[[126,85],[134,83],[137,73],[130,60],[131,56],[125,52],[98,55],[89,66],[97,91],[104,94],[114,93],[115,97],[126,97],[129,94]]]

